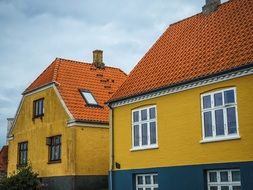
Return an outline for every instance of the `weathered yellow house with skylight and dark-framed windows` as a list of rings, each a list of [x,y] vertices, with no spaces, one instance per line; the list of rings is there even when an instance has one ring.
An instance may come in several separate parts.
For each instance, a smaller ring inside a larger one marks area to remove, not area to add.
[[[9,132],[8,173],[31,163],[48,190],[103,189],[108,184],[109,109],[126,74],[56,58],[24,91]]]

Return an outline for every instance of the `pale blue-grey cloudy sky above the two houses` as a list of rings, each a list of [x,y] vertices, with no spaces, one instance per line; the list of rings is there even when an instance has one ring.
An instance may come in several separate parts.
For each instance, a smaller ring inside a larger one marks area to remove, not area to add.
[[[201,11],[204,0],[0,0],[0,146],[21,93],[56,58],[126,73],[173,22]]]

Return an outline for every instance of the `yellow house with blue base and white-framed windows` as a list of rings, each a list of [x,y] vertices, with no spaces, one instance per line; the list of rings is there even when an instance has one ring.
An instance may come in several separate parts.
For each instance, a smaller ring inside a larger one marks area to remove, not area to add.
[[[207,0],[108,101],[111,190],[253,189],[253,1]]]

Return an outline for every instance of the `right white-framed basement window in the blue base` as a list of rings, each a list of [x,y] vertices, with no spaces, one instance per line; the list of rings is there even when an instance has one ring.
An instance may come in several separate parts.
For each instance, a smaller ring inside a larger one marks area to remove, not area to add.
[[[241,190],[239,169],[207,171],[208,190]]]

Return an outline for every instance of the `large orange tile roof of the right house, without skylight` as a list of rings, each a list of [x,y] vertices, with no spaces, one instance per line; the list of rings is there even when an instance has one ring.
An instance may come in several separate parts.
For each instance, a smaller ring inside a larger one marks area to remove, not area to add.
[[[230,0],[170,25],[109,101],[253,63],[252,10],[252,0]]]

